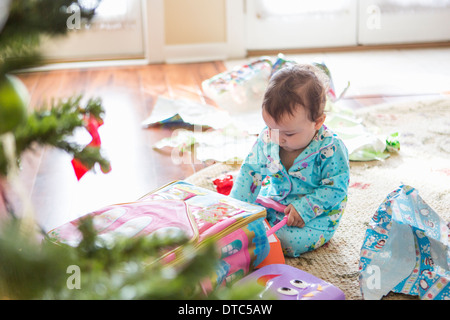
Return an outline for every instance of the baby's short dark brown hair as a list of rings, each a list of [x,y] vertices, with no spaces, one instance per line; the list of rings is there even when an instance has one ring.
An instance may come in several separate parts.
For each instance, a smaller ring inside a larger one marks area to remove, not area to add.
[[[329,79],[319,68],[309,64],[293,64],[272,75],[264,94],[263,109],[279,122],[286,114],[293,115],[302,105],[311,121],[316,121],[326,104]]]

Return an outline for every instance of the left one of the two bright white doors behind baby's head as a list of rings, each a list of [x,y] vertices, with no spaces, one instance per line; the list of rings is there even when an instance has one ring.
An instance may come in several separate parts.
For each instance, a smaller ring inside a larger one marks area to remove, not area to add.
[[[357,0],[247,0],[247,50],[354,46]]]

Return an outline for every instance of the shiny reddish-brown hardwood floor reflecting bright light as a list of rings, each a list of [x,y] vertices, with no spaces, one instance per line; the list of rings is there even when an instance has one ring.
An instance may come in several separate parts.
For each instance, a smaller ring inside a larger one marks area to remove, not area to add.
[[[144,129],[158,98],[190,99],[214,105],[201,83],[226,70],[223,62],[104,67],[20,74],[31,95],[31,106],[74,94],[102,98],[106,110],[100,128],[102,147],[112,171],[88,173],[77,181],[71,158],[58,150],[37,148],[22,158],[21,180],[30,195],[35,217],[46,231],[103,206],[133,201],[170,181],[184,179],[203,164],[171,162],[152,146],[173,129]],[[411,97],[362,96],[344,99],[352,108]],[[417,96],[416,98],[420,98]],[[18,206],[18,205],[17,205]],[[20,206],[18,208],[20,211]]]

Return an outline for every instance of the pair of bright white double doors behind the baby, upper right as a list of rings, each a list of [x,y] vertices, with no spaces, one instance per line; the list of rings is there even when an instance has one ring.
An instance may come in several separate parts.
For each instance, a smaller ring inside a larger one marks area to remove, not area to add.
[[[450,40],[450,0],[247,0],[248,50]]]

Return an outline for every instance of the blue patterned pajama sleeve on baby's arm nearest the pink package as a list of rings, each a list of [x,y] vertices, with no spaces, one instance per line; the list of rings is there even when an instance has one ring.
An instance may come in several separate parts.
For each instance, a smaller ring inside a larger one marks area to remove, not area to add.
[[[261,137],[253,145],[243,162],[231,189],[230,196],[249,203],[255,203],[265,177],[263,142]]]

